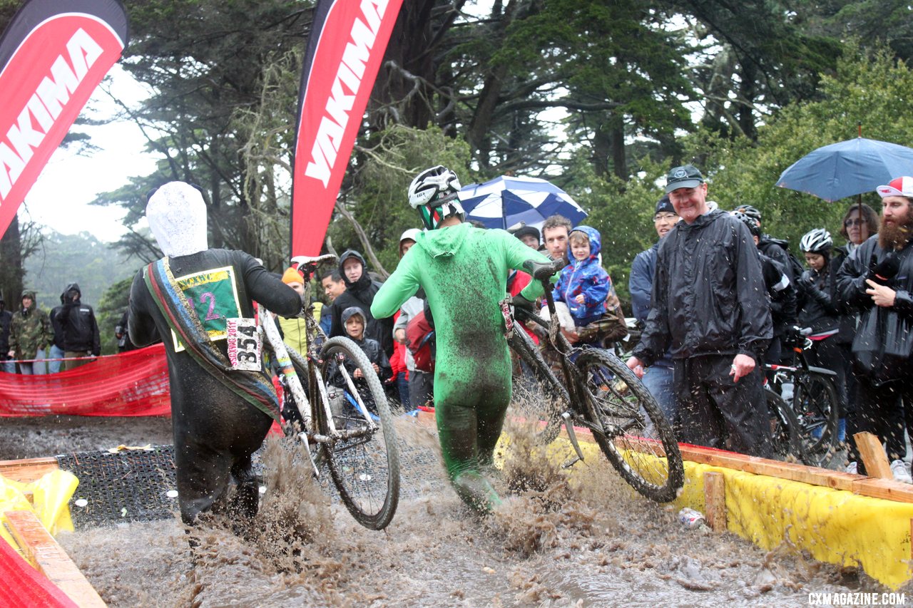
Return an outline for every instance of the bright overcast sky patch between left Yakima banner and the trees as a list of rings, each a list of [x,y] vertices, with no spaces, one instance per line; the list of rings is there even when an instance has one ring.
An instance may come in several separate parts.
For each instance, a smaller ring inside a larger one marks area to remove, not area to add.
[[[115,114],[114,103],[104,89],[130,106],[142,99],[142,87],[119,65],[111,68],[111,75],[96,89],[81,117],[104,120]],[[142,152],[145,140],[139,127],[131,122],[78,129],[88,133],[100,151],[92,156],[77,156],[62,148],[54,152],[19,207],[19,221],[31,219],[65,235],[85,231],[111,242],[124,232],[123,212],[120,207],[99,207],[89,202],[96,194],[120,187],[131,175],[152,173],[155,159]]]

